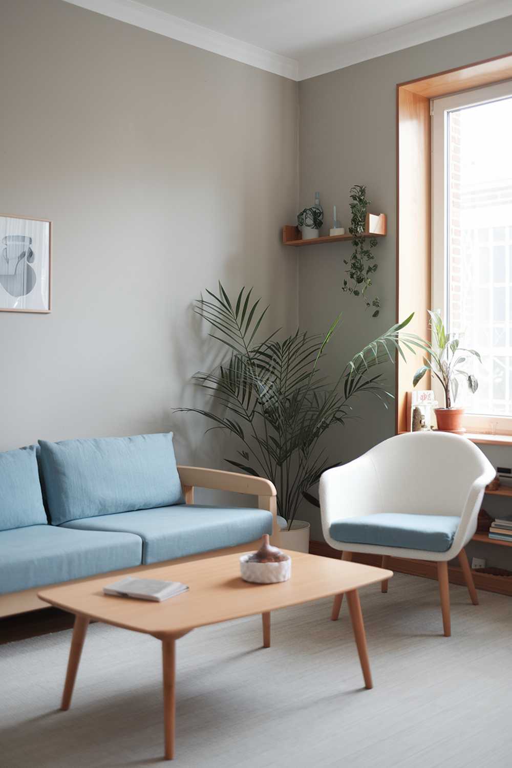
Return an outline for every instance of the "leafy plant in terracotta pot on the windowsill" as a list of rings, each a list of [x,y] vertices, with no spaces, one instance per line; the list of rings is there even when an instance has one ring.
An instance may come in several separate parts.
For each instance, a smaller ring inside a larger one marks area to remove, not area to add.
[[[444,393],[444,408],[436,408],[435,416],[438,429],[441,432],[454,432],[463,435],[466,431],[462,426],[464,408],[457,408],[454,403],[457,400],[460,379],[465,379],[467,387],[474,394],[478,389],[478,382],[472,373],[464,370],[464,362],[469,356],[476,357],[479,362],[481,356],[476,349],[465,349],[460,346],[461,337],[456,333],[447,333],[439,312],[429,310],[432,341],[424,341],[428,349],[428,357],[424,357],[423,366],[415,372],[412,385],[416,386],[423,379],[427,371],[431,371],[441,382]]]

